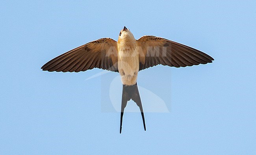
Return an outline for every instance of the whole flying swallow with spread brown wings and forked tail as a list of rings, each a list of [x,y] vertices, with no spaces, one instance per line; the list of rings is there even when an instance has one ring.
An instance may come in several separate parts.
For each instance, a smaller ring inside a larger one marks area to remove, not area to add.
[[[119,72],[122,88],[120,133],[124,108],[133,100],[145,118],[137,86],[138,72],[158,64],[186,67],[211,63],[214,59],[197,49],[157,36],[142,36],[138,40],[124,26],[118,41],[111,38],[94,40],[50,60],[41,67],[43,71],[80,72],[93,68]]]

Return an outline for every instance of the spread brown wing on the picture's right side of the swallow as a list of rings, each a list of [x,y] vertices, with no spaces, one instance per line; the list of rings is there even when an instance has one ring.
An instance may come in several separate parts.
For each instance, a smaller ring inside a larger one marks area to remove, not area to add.
[[[214,60],[197,49],[156,36],[142,36],[137,43],[140,47],[139,70],[158,64],[186,67],[207,64]]]

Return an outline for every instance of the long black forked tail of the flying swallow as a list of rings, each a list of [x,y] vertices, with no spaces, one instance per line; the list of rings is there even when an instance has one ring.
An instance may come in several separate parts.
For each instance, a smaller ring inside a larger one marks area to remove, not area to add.
[[[141,116],[143,119],[143,125],[144,129],[146,131],[146,124],[145,124],[145,118],[144,118],[144,113],[143,113],[143,107],[141,103],[141,98],[139,96],[139,89],[137,86],[137,83],[133,86],[125,86],[123,85],[122,87],[122,105],[121,105],[121,120],[120,120],[120,133],[122,132],[122,117],[124,115],[124,108],[127,105],[127,102],[132,99],[137,106],[139,106],[139,109],[141,111]]]

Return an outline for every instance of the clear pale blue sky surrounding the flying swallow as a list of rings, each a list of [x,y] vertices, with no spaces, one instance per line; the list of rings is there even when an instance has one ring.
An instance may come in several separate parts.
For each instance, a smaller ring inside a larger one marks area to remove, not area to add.
[[[0,1],[0,154],[256,154],[255,8],[254,0]],[[125,113],[120,135],[120,113],[106,112],[102,95],[117,73],[85,80],[102,70],[40,68],[92,40],[117,40],[124,26],[215,61],[139,72],[138,85],[170,112],[145,113],[147,131],[140,113]]]

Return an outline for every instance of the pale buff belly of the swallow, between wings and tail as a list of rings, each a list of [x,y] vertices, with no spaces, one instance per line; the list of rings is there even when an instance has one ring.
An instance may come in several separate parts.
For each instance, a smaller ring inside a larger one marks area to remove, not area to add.
[[[139,55],[135,53],[119,52],[118,70],[122,84],[131,86],[136,84],[139,71]]]

